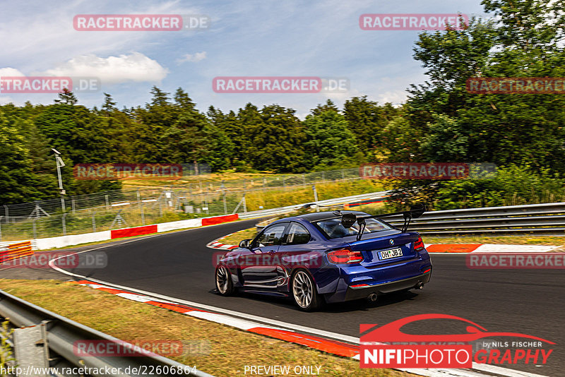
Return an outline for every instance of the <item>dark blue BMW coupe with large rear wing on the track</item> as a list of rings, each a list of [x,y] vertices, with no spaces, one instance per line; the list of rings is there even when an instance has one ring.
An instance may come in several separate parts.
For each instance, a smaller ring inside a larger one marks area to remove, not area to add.
[[[224,296],[237,290],[292,297],[300,309],[422,289],[432,262],[417,232],[407,232],[422,205],[371,216],[357,211],[309,213],[277,220],[218,261],[215,282]],[[381,217],[404,216],[402,229]]]

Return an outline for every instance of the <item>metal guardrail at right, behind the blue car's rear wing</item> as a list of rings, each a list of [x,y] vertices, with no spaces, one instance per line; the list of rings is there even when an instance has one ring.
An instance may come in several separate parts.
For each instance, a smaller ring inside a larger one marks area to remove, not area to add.
[[[402,225],[402,216],[386,217]],[[540,234],[565,236],[565,203],[441,210],[424,213],[410,222],[421,234]]]

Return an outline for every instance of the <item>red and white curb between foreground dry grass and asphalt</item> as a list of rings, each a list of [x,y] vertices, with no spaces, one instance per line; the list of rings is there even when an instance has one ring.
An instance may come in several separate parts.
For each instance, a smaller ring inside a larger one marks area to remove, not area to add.
[[[98,289],[100,291],[104,291],[110,294],[115,294],[116,296],[122,297],[124,299],[129,299],[144,304],[158,306],[160,308],[175,311],[177,313],[182,313],[187,316],[192,316],[206,321],[220,323],[222,325],[228,325],[232,328],[248,331],[249,333],[266,335],[268,337],[272,337],[278,340],[284,340],[286,342],[292,342],[297,345],[303,345],[305,347],[309,347],[311,349],[317,349],[319,351],[327,352],[329,354],[335,354],[340,357],[351,357],[352,359],[359,360],[359,338],[357,337],[350,337],[347,335],[330,333],[324,330],[307,328],[299,325],[292,325],[280,321],[270,320],[268,318],[261,318],[258,316],[249,315],[246,313],[238,313],[235,311],[229,311],[227,309],[215,308],[213,306],[198,305],[208,310],[197,309],[191,306],[190,304],[193,303],[189,301],[174,299],[172,297],[166,297],[160,294],[153,294],[151,292],[138,291],[137,289],[126,290],[124,289],[125,287],[118,288],[118,287],[114,287],[113,285],[102,284],[101,282],[93,282],[90,280],[79,280],[78,282],[76,282],[76,284],[91,287],[93,289]],[[218,311],[223,311],[224,313],[215,313],[214,311],[216,309]],[[243,319],[238,317],[256,319],[258,320],[258,322],[250,321],[248,319]],[[273,326],[265,325],[264,323],[272,323]],[[289,328],[296,328],[298,330],[305,331],[306,333],[312,333],[312,334],[317,333],[321,336],[299,333],[295,330],[290,330]],[[348,342],[328,339],[327,337],[323,337],[323,336],[333,337],[334,339],[344,339],[347,340]],[[398,369],[398,370],[405,371],[408,373],[414,373],[420,376],[427,376],[427,377],[492,376],[491,374],[486,374],[486,373],[494,373],[498,376],[508,376],[508,377],[547,377],[547,376],[542,376],[540,374],[515,371],[513,369],[506,369],[500,366],[493,366],[489,364],[477,364],[475,362],[473,362],[472,364],[472,369]]]

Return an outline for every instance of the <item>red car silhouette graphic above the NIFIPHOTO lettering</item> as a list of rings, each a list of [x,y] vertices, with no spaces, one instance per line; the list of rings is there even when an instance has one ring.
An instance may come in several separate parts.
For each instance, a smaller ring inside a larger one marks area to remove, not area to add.
[[[463,334],[453,334],[453,335],[414,335],[406,334],[400,331],[400,328],[408,323],[415,321],[421,321],[424,319],[456,319],[458,321],[463,321],[469,323],[465,330],[467,333]],[[460,318],[456,316],[450,316],[448,314],[419,314],[417,316],[410,316],[406,318],[399,319],[398,321],[393,321],[386,325],[382,325],[379,328],[375,328],[377,325],[360,325],[359,330],[361,333],[366,332],[369,329],[374,329],[365,333],[361,336],[361,342],[472,342],[473,340],[481,339],[483,337],[525,337],[528,339],[541,340],[542,342],[554,345],[554,342],[542,339],[541,337],[535,337],[533,335],[526,335],[520,333],[496,333],[490,332],[481,325],[477,325],[472,321],[465,318]]]

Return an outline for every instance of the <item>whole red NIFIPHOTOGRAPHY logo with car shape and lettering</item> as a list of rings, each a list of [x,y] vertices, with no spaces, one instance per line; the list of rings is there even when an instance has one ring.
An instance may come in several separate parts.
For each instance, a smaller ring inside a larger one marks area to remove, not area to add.
[[[453,335],[413,335],[400,331],[408,323],[429,319],[456,320],[467,323],[467,333]],[[371,330],[372,329],[372,330]],[[478,364],[547,364],[553,349],[542,345],[554,342],[521,333],[491,332],[465,318],[448,314],[420,314],[387,325],[360,325],[361,368],[472,368]],[[488,349],[473,352],[471,342],[489,337]],[[492,337],[527,340],[492,342]],[[502,349],[506,348],[506,349]]]

